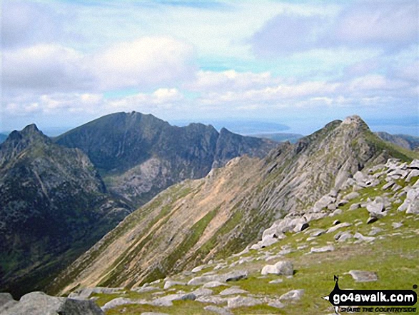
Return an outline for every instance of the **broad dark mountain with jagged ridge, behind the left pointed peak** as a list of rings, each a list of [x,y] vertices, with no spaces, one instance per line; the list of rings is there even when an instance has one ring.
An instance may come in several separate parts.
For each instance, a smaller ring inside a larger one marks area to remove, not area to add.
[[[153,115],[132,112],[101,117],[55,139],[84,151],[108,190],[135,206],[184,179],[206,176],[213,166],[249,154],[263,157],[276,144],[220,133],[213,126],[171,126]]]

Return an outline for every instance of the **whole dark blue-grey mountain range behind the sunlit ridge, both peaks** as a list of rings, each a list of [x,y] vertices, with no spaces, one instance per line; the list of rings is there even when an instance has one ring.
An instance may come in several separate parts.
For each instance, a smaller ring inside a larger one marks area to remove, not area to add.
[[[132,112],[49,138],[31,124],[0,144],[0,288],[42,289],[118,222],[171,184],[275,142]]]

